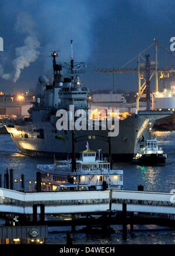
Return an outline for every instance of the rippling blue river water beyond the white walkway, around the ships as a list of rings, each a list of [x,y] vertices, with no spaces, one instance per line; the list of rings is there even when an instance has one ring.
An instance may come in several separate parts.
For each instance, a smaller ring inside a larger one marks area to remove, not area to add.
[[[175,189],[175,131],[155,132],[159,145],[167,153],[166,166],[136,166],[131,163],[115,163],[114,168],[124,170],[124,189],[137,189],[141,183],[144,190],[170,192]],[[15,179],[20,179],[24,173],[26,182],[36,180],[36,166],[41,163],[52,163],[53,159],[33,158],[24,156],[17,151],[9,135],[0,135],[0,170],[3,173],[8,168],[15,170]],[[3,176],[3,175],[2,175]]]

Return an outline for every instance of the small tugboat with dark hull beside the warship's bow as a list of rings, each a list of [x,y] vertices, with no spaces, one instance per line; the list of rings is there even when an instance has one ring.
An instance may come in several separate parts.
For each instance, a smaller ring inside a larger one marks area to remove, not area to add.
[[[165,165],[167,155],[162,148],[158,148],[156,138],[148,138],[140,143],[140,151],[136,153],[132,162],[139,165]]]

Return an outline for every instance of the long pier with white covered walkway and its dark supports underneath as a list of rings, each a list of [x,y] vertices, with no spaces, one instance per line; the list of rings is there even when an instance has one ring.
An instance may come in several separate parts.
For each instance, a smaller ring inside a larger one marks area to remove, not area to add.
[[[14,225],[71,226],[73,232],[76,226],[85,226],[86,231],[101,227],[105,233],[111,225],[122,225],[124,239],[128,225],[131,232],[136,224],[175,228],[172,193],[115,189],[24,193],[0,189],[0,195],[1,216],[19,216]]]

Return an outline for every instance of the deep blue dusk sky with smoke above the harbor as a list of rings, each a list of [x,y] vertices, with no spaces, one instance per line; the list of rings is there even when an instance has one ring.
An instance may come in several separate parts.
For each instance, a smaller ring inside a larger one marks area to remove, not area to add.
[[[58,60],[69,61],[70,39],[75,61],[87,63],[84,86],[112,88],[112,76],[94,69],[123,66],[154,38],[169,49],[175,36],[174,0],[0,0],[0,4],[4,40],[0,90],[5,91],[14,79],[15,90],[20,91],[34,87],[40,74],[49,78],[51,50],[60,51]],[[153,49],[145,53],[153,59]],[[127,67],[135,67],[136,61]],[[159,49],[160,66],[174,62]],[[136,78],[136,74],[117,74],[116,89],[136,90]]]

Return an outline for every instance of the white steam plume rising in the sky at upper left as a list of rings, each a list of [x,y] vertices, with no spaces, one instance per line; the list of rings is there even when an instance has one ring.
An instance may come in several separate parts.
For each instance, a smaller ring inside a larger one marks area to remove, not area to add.
[[[38,51],[40,42],[34,33],[34,22],[27,13],[22,13],[17,17],[16,30],[27,34],[27,37],[24,39],[24,46],[15,49],[17,57],[12,62],[15,67],[14,83],[19,79],[22,70],[29,67],[30,63],[35,62],[40,54]]]

